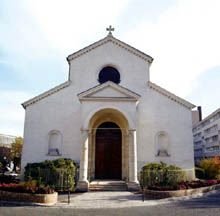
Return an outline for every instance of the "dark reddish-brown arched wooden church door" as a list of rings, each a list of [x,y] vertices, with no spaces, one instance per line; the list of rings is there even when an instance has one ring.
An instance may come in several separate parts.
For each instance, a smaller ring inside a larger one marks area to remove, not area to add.
[[[104,122],[95,136],[95,178],[121,179],[122,133],[113,122]]]

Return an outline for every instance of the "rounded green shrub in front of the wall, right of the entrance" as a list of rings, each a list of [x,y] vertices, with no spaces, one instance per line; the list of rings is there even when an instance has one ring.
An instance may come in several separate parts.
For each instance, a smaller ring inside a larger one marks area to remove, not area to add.
[[[174,165],[167,165],[163,162],[148,163],[140,173],[140,183],[145,186],[176,186],[185,180],[184,171]]]

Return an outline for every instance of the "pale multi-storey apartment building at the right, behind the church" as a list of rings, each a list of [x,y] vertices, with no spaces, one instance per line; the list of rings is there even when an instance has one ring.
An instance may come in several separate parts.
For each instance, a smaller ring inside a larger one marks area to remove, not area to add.
[[[220,156],[220,108],[194,124],[193,141],[196,163],[203,158]]]

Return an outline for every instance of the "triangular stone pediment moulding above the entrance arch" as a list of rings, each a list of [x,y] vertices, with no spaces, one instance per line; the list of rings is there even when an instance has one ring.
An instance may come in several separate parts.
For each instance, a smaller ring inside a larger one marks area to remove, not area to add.
[[[125,97],[90,97],[91,94],[101,91],[106,87],[112,87],[116,91],[125,94]],[[94,86],[84,92],[78,94],[79,100],[123,100],[123,101],[137,101],[140,98],[140,95],[123,87],[117,85],[111,81],[105,82],[101,85]]]

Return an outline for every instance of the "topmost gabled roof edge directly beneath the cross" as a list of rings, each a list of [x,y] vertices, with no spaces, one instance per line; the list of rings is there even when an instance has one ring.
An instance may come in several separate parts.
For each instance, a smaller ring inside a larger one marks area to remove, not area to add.
[[[103,38],[103,39],[101,39],[101,40],[99,40],[99,41],[97,41],[97,42],[95,42],[95,43],[93,43],[93,44],[91,44],[91,45],[89,45],[89,46],[87,46],[87,47],[71,54],[71,55],[69,55],[67,57],[67,61],[69,62],[69,61],[71,61],[75,58],[78,58],[78,57],[80,57],[80,56],[92,51],[93,49],[95,49],[99,46],[102,46],[103,44],[106,44],[108,42],[113,43],[113,44],[121,47],[122,49],[127,50],[128,52],[144,59],[145,61],[147,61],[149,63],[152,63],[152,61],[153,61],[153,58],[151,56],[149,56],[149,55],[141,52],[140,50],[126,44],[125,42],[122,42],[122,41],[116,39],[111,34],[108,34],[105,38]]]

